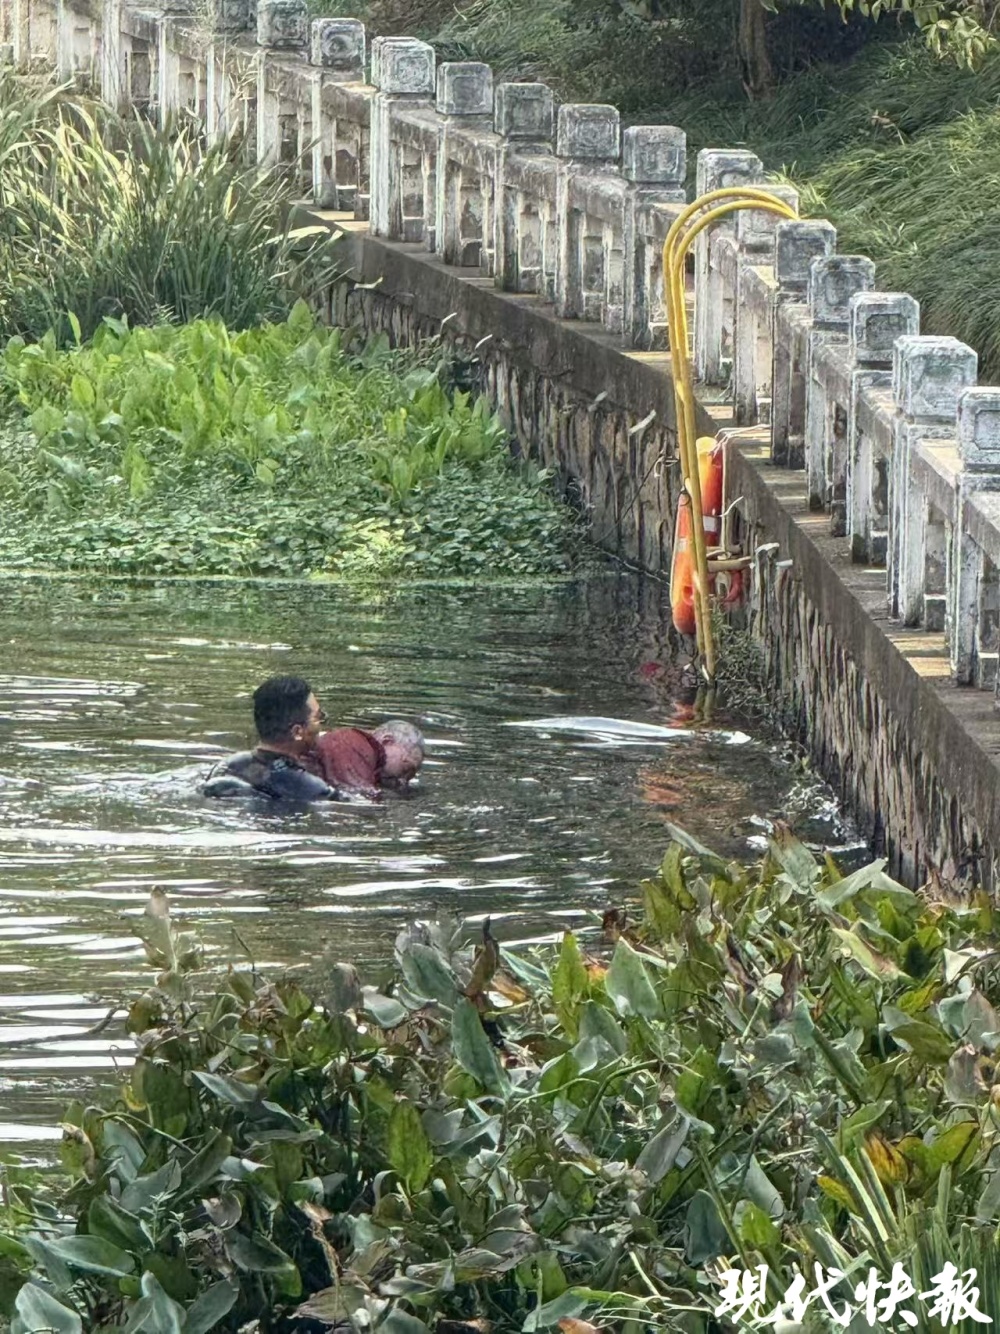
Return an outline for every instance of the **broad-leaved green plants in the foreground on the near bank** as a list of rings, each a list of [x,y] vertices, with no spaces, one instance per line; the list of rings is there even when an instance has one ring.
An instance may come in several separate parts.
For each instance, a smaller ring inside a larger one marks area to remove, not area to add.
[[[865,1327],[939,1330],[919,1294],[969,1269],[991,1315],[985,895],[844,878],[781,828],[751,867],[671,832],[603,939],[507,950],[485,923],[473,952],[419,924],[369,984],[211,974],[155,892],[120,1097],[68,1110],[64,1189],[8,1182],[15,1334],[700,1334],[727,1269],[764,1313],[801,1271],[819,1329],[813,1266]]]

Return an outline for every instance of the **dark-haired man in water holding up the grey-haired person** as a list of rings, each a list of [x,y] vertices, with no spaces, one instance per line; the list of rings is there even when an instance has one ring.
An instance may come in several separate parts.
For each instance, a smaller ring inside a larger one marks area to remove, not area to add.
[[[253,692],[260,744],[223,760],[204,786],[205,796],[271,796],[291,802],[339,800],[340,791],[308,766],[327,716],[308,682],[271,676]]]

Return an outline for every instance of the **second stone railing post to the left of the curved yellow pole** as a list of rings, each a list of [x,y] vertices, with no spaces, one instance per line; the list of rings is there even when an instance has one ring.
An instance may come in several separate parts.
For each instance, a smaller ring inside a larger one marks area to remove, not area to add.
[[[556,184],[556,217],[561,228],[559,237],[559,267],[556,269],[556,315],[587,317],[584,265],[597,256],[585,235],[585,217],[573,208],[571,181],[580,188],[588,173],[616,173],[620,153],[620,121],[617,107],[591,103],[567,103],[559,108],[556,123],[556,156],[560,159]],[[604,263],[604,255],[600,255]]]

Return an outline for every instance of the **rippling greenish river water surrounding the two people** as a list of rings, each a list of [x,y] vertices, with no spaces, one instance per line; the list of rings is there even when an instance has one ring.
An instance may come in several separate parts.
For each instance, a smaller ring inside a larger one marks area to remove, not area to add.
[[[439,907],[492,915],[507,942],[549,936],[657,864],[665,819],[740,854],[751,812],[803,802],[737,726],[683,724],[656,666],[663,590],[629,575],[389,604],[288,586],[0,590],[0,1139],[44,1137],[128,1063],[101,1021],[148,978],[129,919],[153,886],[219,959],[379,963]],[[204,800],[199,778],[251,742],[249,695],[272,672],[307,676],[341,722],[419,722],[415,795]]]

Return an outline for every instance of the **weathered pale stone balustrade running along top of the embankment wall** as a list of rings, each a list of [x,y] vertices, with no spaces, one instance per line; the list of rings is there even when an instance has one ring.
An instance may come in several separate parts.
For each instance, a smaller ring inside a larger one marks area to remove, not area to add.
[[[0,0],[20,65],[92,80],[160,120],[243,129],[303,200],[351,213],[469,276],[535,293],[623,348],[667,346],[661,248],[684,205],[685,137],[557,105],[543,83],[437,63],[412,37],[365,40],[305,0]],[[769,183],[751,152],[699,153],[696,191]],[[693,247],[693,364],[853,560],[884,566],[887,607],[947,636],[960,684],[995,690],[1000,652],[1000,390],[976,355],[920,335],[917,303],[875,288],[823,220],[731,215]],[[599,387],[596,387],[599,388]]]

